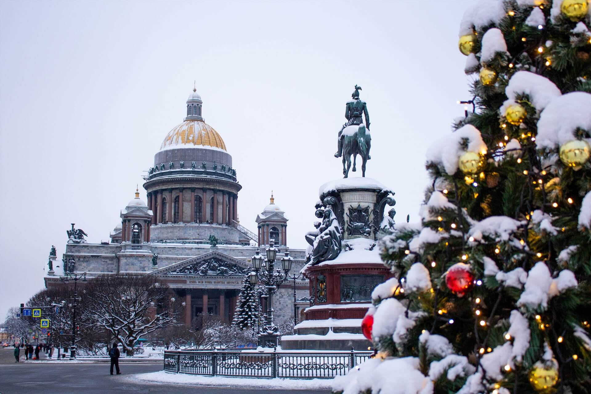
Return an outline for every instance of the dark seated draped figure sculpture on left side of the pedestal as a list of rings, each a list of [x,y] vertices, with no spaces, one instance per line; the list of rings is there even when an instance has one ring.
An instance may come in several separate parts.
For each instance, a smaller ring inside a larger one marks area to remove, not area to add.
[[[307,235],[306,240],[312,246],[312,265],[336,259],[341,250],[341,234],[339,221],[331,208],[326,208],[322,224],[318,228],[316,238]]]

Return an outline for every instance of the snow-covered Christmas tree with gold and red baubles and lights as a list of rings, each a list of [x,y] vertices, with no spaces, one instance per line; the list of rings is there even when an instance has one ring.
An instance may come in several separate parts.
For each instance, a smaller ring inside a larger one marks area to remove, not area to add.
[[[590,22],[588,0],[466,11],[474,111],[427,152],[420,223],[381,240],[376,354],[335,392],[591,392]]]

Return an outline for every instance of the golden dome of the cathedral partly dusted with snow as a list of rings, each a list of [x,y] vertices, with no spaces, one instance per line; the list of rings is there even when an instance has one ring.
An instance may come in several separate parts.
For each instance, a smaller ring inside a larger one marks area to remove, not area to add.
[[[226,144],[213,127],[202,120],[186,120],[166,135],[160,150],[202,146],[226,150]]]

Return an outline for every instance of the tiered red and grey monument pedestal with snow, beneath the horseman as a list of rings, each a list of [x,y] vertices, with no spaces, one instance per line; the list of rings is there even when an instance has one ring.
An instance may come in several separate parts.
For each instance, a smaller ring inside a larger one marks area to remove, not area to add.
[[[304,267],[313,305],[306,320],[284,335],[284,350],[368,350],[372,344],[361,332],[361,320],[371,306],[375,286],[392,277],[377,247],[386,205],[394,193],[371,178],[347,178],[325,183],[319,190],[317,217],[323,209],[335,213],[342,250],[333,260]]]

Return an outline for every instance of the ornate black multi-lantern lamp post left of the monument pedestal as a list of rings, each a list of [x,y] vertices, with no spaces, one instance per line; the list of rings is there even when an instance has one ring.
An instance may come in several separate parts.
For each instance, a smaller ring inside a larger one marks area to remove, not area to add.
[[[274,243],[269,243],[269,247],[265,248],[267,259],[261,256],[261,251],[256,250],[255,255],[252,256],[252,267],[254,272],[249,274],[251,283],[260,281],[267,290],[267,315],[263,327],[259,330],[258,345],[262,347],[277,347],[279,338],[279,328],[273,322],[273,294],[277,293],[279,286],[288,280],[287,273],[291,270],[293,257],[289,252],[285,252],[285,257],[281,257],[281,268],[274,272],[275,257],[277,257],[278,249]],[[263,264],[263,260],[265,264]]]

